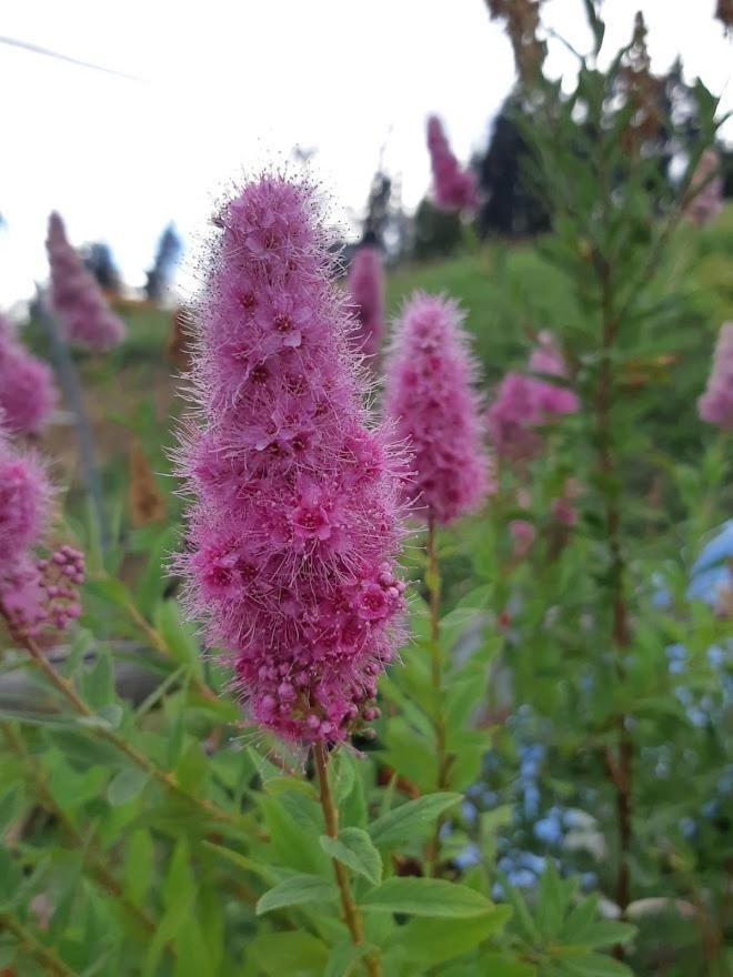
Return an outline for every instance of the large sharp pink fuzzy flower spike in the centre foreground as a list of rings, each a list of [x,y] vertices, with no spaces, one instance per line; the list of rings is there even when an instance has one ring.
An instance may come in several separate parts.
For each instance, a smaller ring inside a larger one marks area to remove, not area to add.
[[[181,451],[190,612],[255,723],[338,742],[374,718],[402,636],[402,461],[362,406],[314,191],[263,175],[217,224]]]

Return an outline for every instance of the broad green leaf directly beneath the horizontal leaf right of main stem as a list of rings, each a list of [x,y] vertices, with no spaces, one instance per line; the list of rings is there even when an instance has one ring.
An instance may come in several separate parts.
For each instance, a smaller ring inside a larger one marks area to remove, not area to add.
[[[411,919],[405,926],[399,927],[390,946],[401,947],[410,961],[442,964],[479,946],[503,926],[511,915],[509,906],[496,906],[485,916]]]

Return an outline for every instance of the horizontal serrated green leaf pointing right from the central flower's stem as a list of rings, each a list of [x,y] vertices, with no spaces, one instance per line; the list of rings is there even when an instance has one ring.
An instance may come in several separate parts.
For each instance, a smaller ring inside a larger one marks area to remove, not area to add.
[[[442,878],[388,878],[360,900],[368,913],[409,913],[412,916],[462,918],[483,916],[494,904],[475,889]]]

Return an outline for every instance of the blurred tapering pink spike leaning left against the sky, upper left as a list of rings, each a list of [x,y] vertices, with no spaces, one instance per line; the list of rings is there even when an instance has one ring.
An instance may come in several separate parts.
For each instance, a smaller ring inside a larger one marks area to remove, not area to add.
[[[63,221],[57,213],[49,219],[46,249],[51,270],[51,303],[67,339],[98,351],[120,343],[124,325],[67,240]]]

